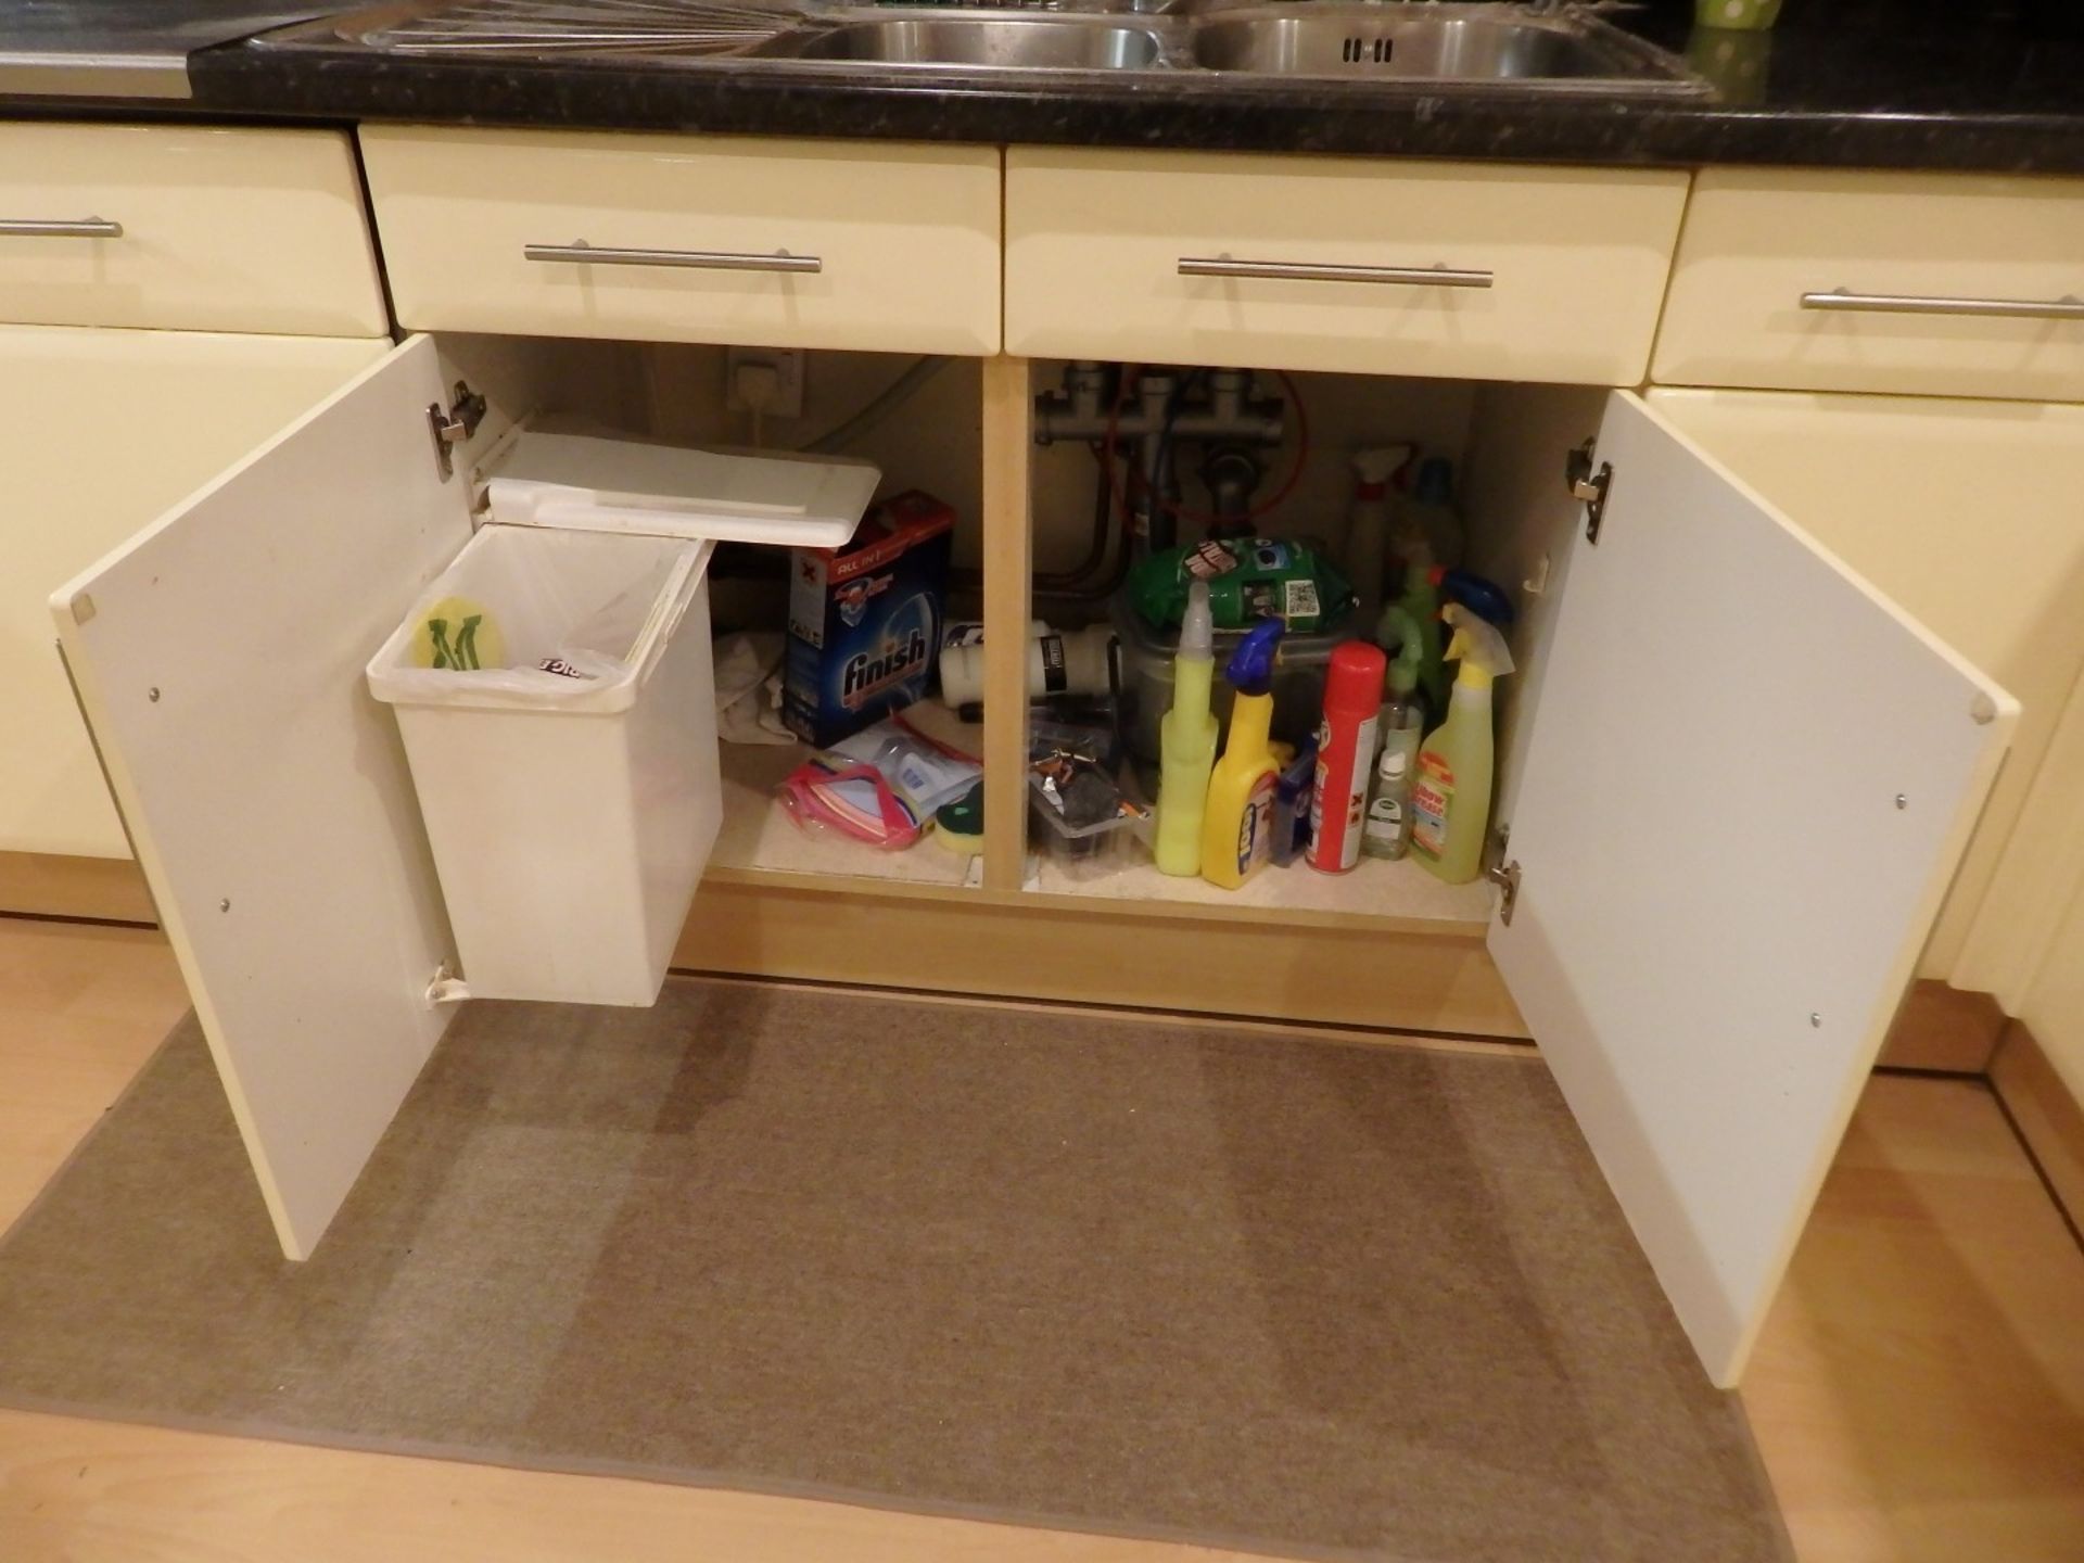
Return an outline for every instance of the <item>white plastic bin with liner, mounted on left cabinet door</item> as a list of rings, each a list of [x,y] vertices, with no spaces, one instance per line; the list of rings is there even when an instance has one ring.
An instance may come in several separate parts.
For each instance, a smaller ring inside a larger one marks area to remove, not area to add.
[[[713,542],[488,525],[369,663],[398,715],[463,977],[477,998],[650,1004],[717,840]],[[623,671],[534,669],[638,588]],[[442,598],[498,623],[513,673],[415,667]]]

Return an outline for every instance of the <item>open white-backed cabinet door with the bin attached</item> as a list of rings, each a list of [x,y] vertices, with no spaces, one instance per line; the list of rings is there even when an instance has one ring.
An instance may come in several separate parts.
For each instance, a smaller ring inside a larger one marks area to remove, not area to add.
[[[325,1232],[442,1036],[450,959],[363,663],[471,536],[415,338],[52,598],[117,809],[283,1252]]]

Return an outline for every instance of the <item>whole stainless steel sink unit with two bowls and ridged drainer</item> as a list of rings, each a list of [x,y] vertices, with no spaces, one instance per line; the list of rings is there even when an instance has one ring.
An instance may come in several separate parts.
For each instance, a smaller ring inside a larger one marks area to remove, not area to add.
[[[1425,90],[1671,96],[1686,65],[1588,8],[1490,0],[1055,0],[1048,8],[763,0],[436,0],[279,33],[400,54],[852,67],[863,73],[1165,75]]]

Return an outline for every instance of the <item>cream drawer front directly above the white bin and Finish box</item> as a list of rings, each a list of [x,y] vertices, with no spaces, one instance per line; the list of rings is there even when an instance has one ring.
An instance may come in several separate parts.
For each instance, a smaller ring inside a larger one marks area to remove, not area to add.
[[[363,131],[417,329],[998,350],[998,150]]]

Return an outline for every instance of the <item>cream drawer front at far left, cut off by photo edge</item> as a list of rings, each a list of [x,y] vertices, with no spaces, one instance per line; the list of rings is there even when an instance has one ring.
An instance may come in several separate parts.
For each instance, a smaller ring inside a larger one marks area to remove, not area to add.
[[[0,321],[383,336],[338,131],[0,125]]]

